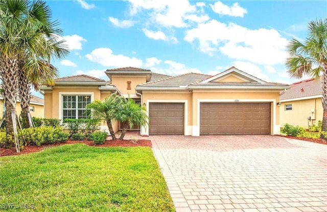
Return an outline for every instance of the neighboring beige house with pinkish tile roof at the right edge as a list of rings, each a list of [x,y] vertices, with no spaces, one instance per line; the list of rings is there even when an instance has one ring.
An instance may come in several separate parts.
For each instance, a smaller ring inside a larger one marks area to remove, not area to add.
[[[281,95],[281,126],[285,123],[308,129],[322,120],[322,88],[320,77],[306,79],[291,84],[291,88]]]

